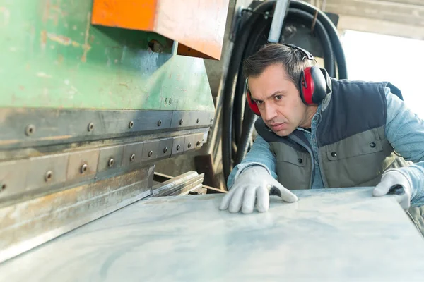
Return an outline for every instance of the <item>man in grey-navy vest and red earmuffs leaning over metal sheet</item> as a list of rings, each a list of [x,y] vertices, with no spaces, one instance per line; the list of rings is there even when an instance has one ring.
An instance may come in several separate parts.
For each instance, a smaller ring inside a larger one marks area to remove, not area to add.
[[[256,200],[266,212],[270,194],[297,201],[290,189],[375,186],[373,196],[398,194],[424,232],[424,121],[389,83],[329,78],[311,60],[290,44],[245,60],[258,136],[230,173],[220,209],[249,214]]]

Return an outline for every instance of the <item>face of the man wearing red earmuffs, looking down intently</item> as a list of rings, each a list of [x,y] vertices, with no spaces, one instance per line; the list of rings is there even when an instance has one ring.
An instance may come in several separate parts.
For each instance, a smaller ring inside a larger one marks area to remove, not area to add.
[[[307,124],[307,106],[281,64],[267,67],[258,77],[250,77],[248,84],[261,118],[278,136],[287,136]]]

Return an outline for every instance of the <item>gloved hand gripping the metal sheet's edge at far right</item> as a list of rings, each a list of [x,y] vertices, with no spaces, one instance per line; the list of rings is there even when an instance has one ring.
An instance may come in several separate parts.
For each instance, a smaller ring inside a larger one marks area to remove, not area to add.
[[[402,189],[403,188],[403,189]],[[396,195],[396,201],[403,209],[409,209],[411,202],[411,185],[408,178],[399,171],[387,171],[383,174],[380,183],[375,186],[372,195],[383,196],[387,194]]]

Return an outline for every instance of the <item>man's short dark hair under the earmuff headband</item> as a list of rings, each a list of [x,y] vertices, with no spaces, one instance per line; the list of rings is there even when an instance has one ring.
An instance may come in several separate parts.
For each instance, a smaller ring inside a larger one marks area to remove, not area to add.
[[[245,78],[258,77],[265,71],[265,68],[281,63],[287,72],[290,80],[295,83],[299,90],[299,78],[302,69],[310,66],[310,61],[299,50],[280,43],[266,44],[255,54],[249,56],[243,62],[243,73]]]

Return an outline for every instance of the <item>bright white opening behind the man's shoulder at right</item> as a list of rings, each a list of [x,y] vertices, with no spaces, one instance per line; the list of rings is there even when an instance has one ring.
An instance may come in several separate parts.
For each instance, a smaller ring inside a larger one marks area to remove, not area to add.
[[[391,82],[424,119],[424,41],[348,30],[341,42],[349,80]]]

